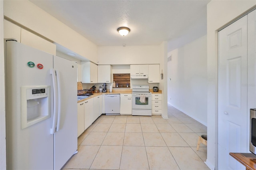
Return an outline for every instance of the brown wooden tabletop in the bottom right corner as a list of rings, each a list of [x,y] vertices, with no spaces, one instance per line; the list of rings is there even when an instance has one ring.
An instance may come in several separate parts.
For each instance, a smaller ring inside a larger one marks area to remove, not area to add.
[[[229,153],[238,162],[246,167],[246,170],[256,170],[256,155],[253,153]]]

